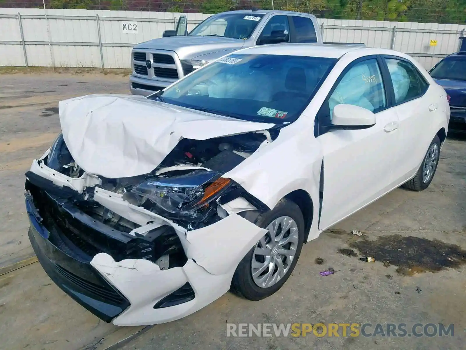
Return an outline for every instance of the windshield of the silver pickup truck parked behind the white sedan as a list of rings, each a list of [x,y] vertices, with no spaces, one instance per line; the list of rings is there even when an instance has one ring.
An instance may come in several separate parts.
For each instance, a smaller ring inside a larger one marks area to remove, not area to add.
[[[206,19],[189,35],[223,36],[233,39],[247,39],[257,27],[263,14],[220,14]]]

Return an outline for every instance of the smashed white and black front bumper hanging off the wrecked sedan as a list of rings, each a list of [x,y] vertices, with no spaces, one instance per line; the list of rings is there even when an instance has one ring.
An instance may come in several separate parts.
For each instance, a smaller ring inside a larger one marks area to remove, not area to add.
[[[176,232],[185,260],[182,266],[161,270],[155,262],[138,258],[140,252],[131,245],[137,239],[134,232],[111,228],[61,196],[74,189],[56,185],[55,175],[49,170],[42,164],[41,175],[28,173],[26,183],[29,237],[34,251],[64,292],[116,325],[169,322],[205,307],[229,290],[236,266],[266,232],[228,205],[225,218],[186,231],[124,201],[121,195],[96,187],[94,200],[141,225],[135,231]],[[134,258],[127,258],[128,246]]]

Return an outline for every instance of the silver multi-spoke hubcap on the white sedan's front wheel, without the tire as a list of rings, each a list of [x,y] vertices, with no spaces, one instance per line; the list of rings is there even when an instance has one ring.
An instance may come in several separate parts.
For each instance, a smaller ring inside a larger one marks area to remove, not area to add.
[[[267,233],[254,247],[251,273],[256,285],[273,286],[291,266],[298,247],[298,225],[291,217],[279,217],[267,226]]]

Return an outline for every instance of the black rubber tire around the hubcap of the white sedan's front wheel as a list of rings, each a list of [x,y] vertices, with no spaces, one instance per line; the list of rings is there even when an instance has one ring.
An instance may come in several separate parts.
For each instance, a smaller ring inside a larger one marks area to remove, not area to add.
[[[285,276],[281,278],[274,285],[263,288],[259,287],[253,280],[253,275],[251,271],[251,264],[253,259],[254,247],[246,254],[246,256],[240,261],[240,264],[236,268],[236,271],[233,275],[232,280],[232,291],[240,296],[243,296],[249,300],[261,300],[267,298],[268,296],[274,294],[277,290],[285,284],[288,280],[288,277],[291,275],[295,269],[296,263],[301,254],[302,244],[304,241],[304,219],[302,217],[302,212],[299,207],[292,201],[288,199],[282,199],[274,208],[274,210],[269,210],[266,213],[260,215],[255,220],[254,224],[258,225],[261,228],[266,228],[271,222],[275,219],[283,216],[291,217],[295,220],[295,223],[298,227],[298,244],[296,247],[295,257],[290,264],[288,271],[285,273]]]

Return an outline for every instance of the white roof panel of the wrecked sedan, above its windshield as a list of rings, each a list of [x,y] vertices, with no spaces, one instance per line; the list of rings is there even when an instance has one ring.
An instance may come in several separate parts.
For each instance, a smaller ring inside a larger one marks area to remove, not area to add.
[[[322,45],[318,43],[296,43],[296,44],[274,44],[254,46],[247,49],[242,49],[237,52],[248,54],[262,55],[287,55],[287,56],[309,56],[309,57],[326,57],[340,58],[350,51],[367,51],[368,55],[374,55],[373,48],[365,48],[361,46],[351,45]],[[386,54],[387,50],[383,50]],[[395,53],[395,51],[393,51]],[[364,53],[361,52],[362,56]]]

